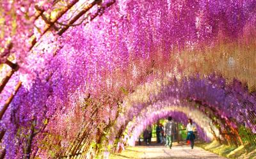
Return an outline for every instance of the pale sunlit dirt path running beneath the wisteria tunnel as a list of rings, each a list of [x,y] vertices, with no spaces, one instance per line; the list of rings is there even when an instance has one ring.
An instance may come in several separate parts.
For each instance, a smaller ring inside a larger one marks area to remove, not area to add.
[[[172,149],[164,146],[136,146],[127,148],[118,155],[111,155],[111,159],[124,158],[151,158],[151,159],[218,159],[223,158],[202,148],[189,148],[187,145],[175,145]]]

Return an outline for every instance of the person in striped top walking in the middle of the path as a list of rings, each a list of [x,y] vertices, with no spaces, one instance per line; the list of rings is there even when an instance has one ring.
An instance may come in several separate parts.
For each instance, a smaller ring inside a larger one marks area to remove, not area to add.
[[[164,134],[166,136],[166,145],[172,149],[173,142],[173,132],[174,132],[174,123],[172,121],[172,116],[168,117],[168,121],[164,126]]]

